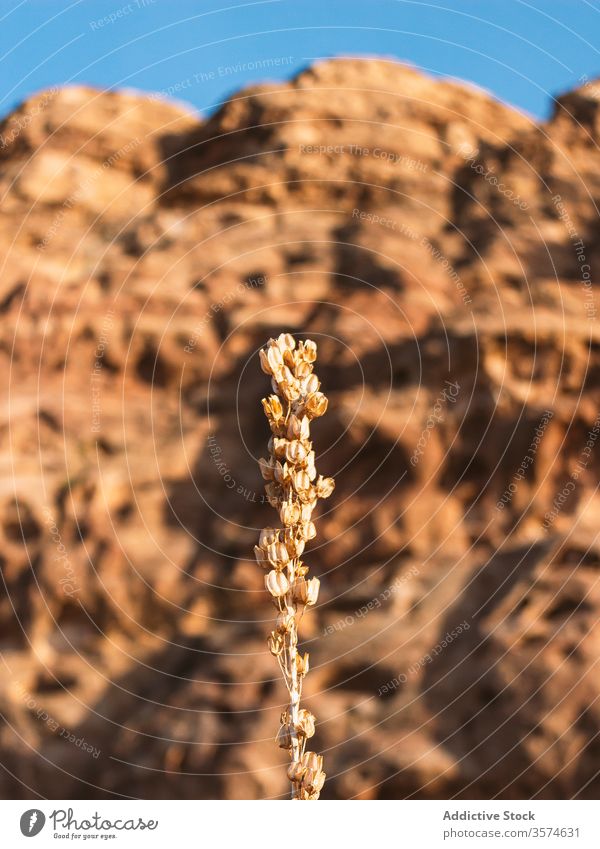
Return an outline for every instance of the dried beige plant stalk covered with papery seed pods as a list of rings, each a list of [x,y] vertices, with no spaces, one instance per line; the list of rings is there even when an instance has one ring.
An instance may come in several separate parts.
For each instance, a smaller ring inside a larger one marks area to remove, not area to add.
[[[325,782],[322,756],[306,751],[306,741],[315,733],[315,717],[300,707],[308,653],[298,651],[298,623],[319,594],[319,579],[307,578],[308,566],[301,557],[316,535],[311,517],[317,499],[331,495],[335,485],[333,478],[317,477],[310,441],[310,422],[327,410],[327,398],[313,372],[316,358],[314,342],[307,339],[296,345],[289,333],[269,339],[260,351],[262,369],[271,376],[275,394],[262,402],[272,435],[269,459],[259,463],[268,501],[278,511],[282,527],[263,528],[254,551],[269,570],[265,585],[279,612],[268,644],[289,693],[277,742],[290,753],[292,799],[318,799]]]

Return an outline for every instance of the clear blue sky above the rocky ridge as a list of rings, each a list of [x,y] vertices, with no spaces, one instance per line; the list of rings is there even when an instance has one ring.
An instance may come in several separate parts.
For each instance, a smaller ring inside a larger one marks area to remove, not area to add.
[[[377,54],[545,116],[553,94],[600,76],[599,48],[598,0],[0,0],[0,114],[64,83],[208,112],[315,58]]]

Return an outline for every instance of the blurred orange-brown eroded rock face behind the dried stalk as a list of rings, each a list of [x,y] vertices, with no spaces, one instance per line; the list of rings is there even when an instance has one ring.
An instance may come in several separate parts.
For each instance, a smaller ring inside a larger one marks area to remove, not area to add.
[[[286,329],[337,481],[324,797],[597,797],[595,90],[536,125],[339,60],[204,122],[84,88],[4,122],[3,796],[285,791],[249,558]]]

